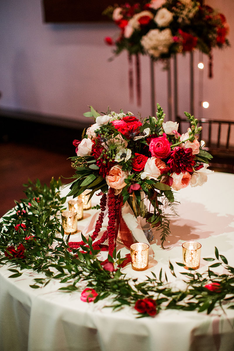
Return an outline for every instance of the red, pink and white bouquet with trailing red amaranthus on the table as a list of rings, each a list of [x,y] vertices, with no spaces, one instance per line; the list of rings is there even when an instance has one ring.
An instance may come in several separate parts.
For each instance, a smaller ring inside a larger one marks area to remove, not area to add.
[[[139,210],[144,198],[151,206],[143,217],[152,227],[162,227],[163,245],[169,234],[164,205],[165,201],[167,205],[173,204],[172,190],[178,191],[189,184],[202,185],[210,172],[207,166],[212,156],[199,144],[198,120],[185,112],[191,128],[181,135],[178,123],[163,122],[165,114],[160,105],[157,106],[156,118],[149,116],[143,121],[122,110],[120,113],[108,110],[100,115],[91,106],[91,112],[84,115],[94,117],[95,124],[83,132],[81,141],[73,141],[77,153],[72,157],[76,179],[68,195],[75,197],[89,189],[91,198],[96,191],[102,192],[101,212],[92,235],[94,240],[100,232],[108,192],[109,223],[95,244],[103,244],[108,238],[111,255],[118,231],[125,230],[129,234],[129,225],[122,217],[126,212],[134,212],[134,206]],[[123,242],[126,246],[129,246],[128,234]],[[83,241],[69,243],[71,247],[83,244]]]

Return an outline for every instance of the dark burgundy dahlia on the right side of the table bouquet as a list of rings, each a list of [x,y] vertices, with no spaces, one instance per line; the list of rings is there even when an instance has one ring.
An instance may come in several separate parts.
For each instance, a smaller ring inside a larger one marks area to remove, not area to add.
[[[167,164],[171,167],[171,171],[176,174],[193,172],[193,166],[196,162],[194,161],[195,155],[191,148],[181,148],[176,146],[171,152],[171,156],[167,161]]]

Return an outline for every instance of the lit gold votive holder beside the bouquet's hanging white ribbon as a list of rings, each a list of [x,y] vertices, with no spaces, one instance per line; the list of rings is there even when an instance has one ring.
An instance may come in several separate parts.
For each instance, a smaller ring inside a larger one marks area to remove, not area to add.
[[[145,271],[148,268],[149,245],[135,243],[130,246],[131,263],[134,271]]]

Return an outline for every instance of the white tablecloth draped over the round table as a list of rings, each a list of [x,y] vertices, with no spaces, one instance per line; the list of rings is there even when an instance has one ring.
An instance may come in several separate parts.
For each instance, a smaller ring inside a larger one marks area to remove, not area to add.
[[[173,279],[170,260],[176,273],[183,271],[181,244],[196,240],[202,245],[202,257],[215,257],[214,247],[234,265],[234,175],[214,173],[202,187],[185,188],[176,194],[180,217],[171,219],[171,236],[160,247],[155,234],[155,252],[149,269],[136,272],[128,264],[123,272],[143,279],[160,269]],[[95,210],[85,212],[79,222],[83,229]],[[71,236],[76,241],[78,236]],[[122,247],[122,246],[120,246]],[[122,256],[129,251],[122,249]],[[219,272],[219,268],[217,271]],[[199,272],[207,269],[201,260]],[[125,307],[113,312],[97,304],[80,300],[80,292],[63,293],[53,281],[41,289],[32,289],[32,279],[39,277],[26,271],[9,279],[12,273],[0,268],[0,351],[233,351],[234,310],[214,310],[210,315],[198,312],[167,310],[156,317],[136,319],[136,311]]]

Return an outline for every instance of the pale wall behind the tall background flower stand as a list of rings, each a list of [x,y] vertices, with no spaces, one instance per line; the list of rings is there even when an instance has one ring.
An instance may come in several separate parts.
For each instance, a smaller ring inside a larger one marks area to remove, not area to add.
[[[234,43],[234,1],[210,0],[230,24],[229,40]],[[0,1],[0,106],[24,111],[65,116],[83,121],[83,112],[92,104],[98,111],[112,110],[151,114],[149,58],[141,57],[142,105],[129,102],[127,54],[113,61],[105,36],[116,37],[114,24],[44,24],[39,0]],[[234,45],[234,44],[233,44]],[[203,100],[198,104],[198,68],[195,69],[195,115],[233,119],[233,47],[214,50],[214,78],[204,70]],[[179,112],[189,111],[188,56],[179,61]],[[198,63],[199,54],[195,53]],[[207,58],[204,59],[207,63]],[[166,72],[155,65],[156,101],[167,112]],[[87,119],[88,121],[88,119]]]

